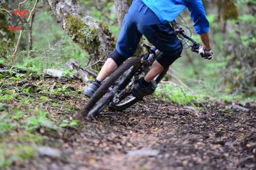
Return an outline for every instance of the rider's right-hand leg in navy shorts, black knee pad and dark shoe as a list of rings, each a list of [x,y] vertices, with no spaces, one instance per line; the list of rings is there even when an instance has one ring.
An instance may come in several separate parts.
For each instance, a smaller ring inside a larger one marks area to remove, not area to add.
[[[152,81],[161,73],[164,68],[169,67],[182,52],[182,44],[177,38],[175,31],[168,25],[139,25],[139,31],[146,36],[158,50],[163,52],[157,57],[156,62],[150,68],[145,78],[141,78],[137,85],[132,89],[134,97],[143,97],[152,94],[156,89],[156,82]]]

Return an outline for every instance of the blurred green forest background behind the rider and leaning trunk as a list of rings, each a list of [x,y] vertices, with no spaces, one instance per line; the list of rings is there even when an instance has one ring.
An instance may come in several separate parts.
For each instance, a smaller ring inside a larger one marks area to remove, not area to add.
[[[4,0],[1,0],[4,1]],[[22,4],[31,10],[35,0]],[[108,25],[118,36],[114,0],[77,0],[84,11],[95,20]],[[3,5],[4,4],[4,5]],[[17,61],[12,62],[12,52],[19,38],[19,31],[6,31],[8,13],[3,9],[18,8],[17,1],[1,4],[0,62],[16,67],[42,72],[48,68],[65,68],[64,64],[75,59],[81,66],[88,66],[88,53],[81,50],[56,23],[49,5],[39,1],[33,18],[33,45],[29,45],[29,31],[24,31],[17,51]],[[214,59],[204,60],[191,50],[184,50],[157,96],[175,103],[191,100],[221,99],[223,101],[256,100],[256,1],[255,0],[204,0],[207,18],[211,24],[211,46]],[[193,29],[189,11],[177,18],[187,32],[200,42]],[[96,68],[96,71],[99,68]]]

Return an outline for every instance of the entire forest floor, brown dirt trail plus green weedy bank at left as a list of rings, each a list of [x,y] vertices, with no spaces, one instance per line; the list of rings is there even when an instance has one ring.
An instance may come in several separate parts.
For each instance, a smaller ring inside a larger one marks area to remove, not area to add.
[[[150,96],[78,123],[79,80],[4,75],[0,86],[0,169],[256,169],[256,103],[206,111]]]

